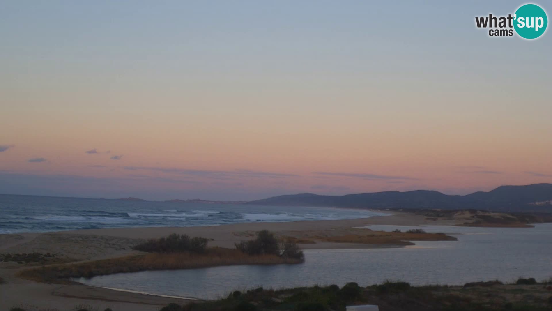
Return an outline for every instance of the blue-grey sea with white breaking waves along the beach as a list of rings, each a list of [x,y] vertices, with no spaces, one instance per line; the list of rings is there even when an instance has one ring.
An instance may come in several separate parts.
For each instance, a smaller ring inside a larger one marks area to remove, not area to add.
[[[115,227],[214,226],[253,221],[355,219],[381,212],[239,204],[0,195],[0,234]]]

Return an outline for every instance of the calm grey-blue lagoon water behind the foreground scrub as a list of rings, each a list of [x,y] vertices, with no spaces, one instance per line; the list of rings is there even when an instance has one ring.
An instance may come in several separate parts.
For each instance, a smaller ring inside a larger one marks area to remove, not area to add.
[[[227,266],[120,273],[76,281],[154,294],[214,299],[235,289],[283,288],[386,279],[412,284],[538,280],[552,277],[552,224],[534,228],[369,226],[373,230],[422,228],[454,234],[458,241],[415,242],[402,248],[308,250],[300,265]]]

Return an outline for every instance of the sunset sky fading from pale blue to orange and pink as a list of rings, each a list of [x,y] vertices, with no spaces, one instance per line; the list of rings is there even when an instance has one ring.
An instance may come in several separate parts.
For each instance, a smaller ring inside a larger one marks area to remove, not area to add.
[[[552,183],[552,34],[475,27],[522,4],[0,1],[0,193]]]

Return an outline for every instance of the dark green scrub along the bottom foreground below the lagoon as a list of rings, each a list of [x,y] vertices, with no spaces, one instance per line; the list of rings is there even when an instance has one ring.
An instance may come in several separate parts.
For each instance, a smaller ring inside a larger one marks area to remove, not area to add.
[[[213,301],[199,300],[183,305],[171,303],[160,311],[344,311],[348,305],[359,304],[375,304],[381,311],[545,311],[552,308],[549,281],[535,284],[519,284],[518,281],[512,284],[473,282],[464,286],[412,286],[402,281],[385,281],[367,287],[353,282],[342,287],[259,287],[233,291],[225,298]],[[35,311],[25,306],[10,310]],[[72,310],[103,309],[78,305]]]

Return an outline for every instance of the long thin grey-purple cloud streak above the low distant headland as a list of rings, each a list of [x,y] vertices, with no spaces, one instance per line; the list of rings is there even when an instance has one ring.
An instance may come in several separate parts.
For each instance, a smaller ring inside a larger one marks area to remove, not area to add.
[[[126,170],[153,170],[156,172],[169,173],[169,174],[182,174],[192,176],[204,176],[204,177],[222,177],[222,176],[246,176],[246,177],[296,177],[298,175],[285,174],[285,173],[273,173],[262,172],[257,170],[248,169],[235,169],[235,170],[200,170],[200,169],[182,169],[182,168],[158,168],[158,167],[124,167]]]

